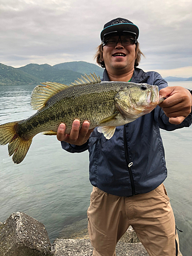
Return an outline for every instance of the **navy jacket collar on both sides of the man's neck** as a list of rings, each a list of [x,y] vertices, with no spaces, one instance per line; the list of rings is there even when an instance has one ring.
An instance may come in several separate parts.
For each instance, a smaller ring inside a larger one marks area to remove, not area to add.
[[[131,82],[141,83],[148,79],[148,76],[142,69],[135,68]],[[108,72],[104,69],[102,81],[110,81]]]

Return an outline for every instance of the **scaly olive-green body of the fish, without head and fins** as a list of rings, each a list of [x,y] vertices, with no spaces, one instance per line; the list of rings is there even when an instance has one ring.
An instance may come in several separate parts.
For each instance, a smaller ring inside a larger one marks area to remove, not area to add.
[[[69,134],[75,119],[80,120],[80,127],[83,121],[89,121],[91,129],[100,120],[113,114],[117,92],[115,82],[69,88],[53,96],[44,109],[21,121],[17,129],[22,134],[25,131],[25,139],[44,131],[56,131],[61,122],[66,124],[66,133]]]

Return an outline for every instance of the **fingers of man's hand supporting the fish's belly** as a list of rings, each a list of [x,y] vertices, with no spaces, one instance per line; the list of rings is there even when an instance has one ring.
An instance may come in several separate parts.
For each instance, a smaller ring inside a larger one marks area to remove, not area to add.
[[[89,130],[90,123],[88,121],[83,122],[80,131],[79,126],[80,121],[74,120],[70,134],[65,134],[66,125],[61,123],[57,130],[57,139],[78,146],[86,143],[94,129]]]

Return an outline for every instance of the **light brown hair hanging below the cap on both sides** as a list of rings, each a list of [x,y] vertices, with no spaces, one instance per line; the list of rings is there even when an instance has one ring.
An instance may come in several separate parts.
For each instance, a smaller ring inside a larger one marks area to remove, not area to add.
[[[139,66],[139,62],[141,60],[141,55],[143,55],[143,57],[145,57],[144,54],[140,50],[139,42],[137,42],[137,44],[136,44],[135,52],[136,52],[136,56],[135,56],[134,67],[137,67],[137,66]],[[102,68],[105,68],[104,61],[103,61],[103,46],[102,46],[102,44],[97,47],[97,52],[94,56],[94,59],[96,59],[96,62],[99,66],[101,66]]]

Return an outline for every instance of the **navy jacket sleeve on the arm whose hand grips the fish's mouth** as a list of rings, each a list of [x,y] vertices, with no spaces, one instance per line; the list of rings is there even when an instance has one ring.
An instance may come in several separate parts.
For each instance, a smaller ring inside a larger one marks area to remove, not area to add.
[[[159,73],[156,72],[154,75],[154,84],[159,87],[159,90],[168,86],[167,82],[161,77]],[[168,117],[165,115],[164,111],[160,108],[160,106],[157,106],[155,108],[154,117],[158,126],[166,131],[174,131],[183,127],[189,127],[192,123],[192,111],[180,124],[169,123]]]

